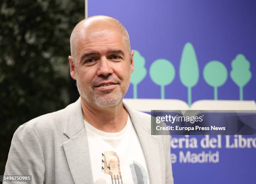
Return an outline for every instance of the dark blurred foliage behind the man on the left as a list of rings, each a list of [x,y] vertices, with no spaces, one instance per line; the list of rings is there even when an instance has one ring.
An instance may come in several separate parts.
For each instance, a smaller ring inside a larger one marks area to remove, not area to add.
[[[69,102],[69,37],[83,18],[83,0],[0,1],[0,174],[18,126]]]

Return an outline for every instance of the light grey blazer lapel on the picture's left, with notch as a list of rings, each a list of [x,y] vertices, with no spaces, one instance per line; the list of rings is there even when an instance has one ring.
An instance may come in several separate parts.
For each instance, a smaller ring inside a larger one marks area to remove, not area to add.
[[[63,143],[65,155],[75,184],[92,184],[92,167],[80,98],[67,107]]]

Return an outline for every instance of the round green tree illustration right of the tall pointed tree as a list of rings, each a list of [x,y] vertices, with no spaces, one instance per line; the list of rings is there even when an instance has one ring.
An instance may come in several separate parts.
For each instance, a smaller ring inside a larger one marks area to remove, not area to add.
[[[210,61],[205,65],[203,76],[205,82],[214,87],[214,100],[218,100],[218,87],[225,84],[228,79],[228,72],[220,61]]]

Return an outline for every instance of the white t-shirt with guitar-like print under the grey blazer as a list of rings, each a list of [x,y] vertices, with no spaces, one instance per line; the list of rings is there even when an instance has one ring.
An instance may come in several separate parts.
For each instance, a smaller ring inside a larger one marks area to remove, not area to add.
[[[84,123],[94,184],[149,184],[146,161],[130,117],[117,133]]]

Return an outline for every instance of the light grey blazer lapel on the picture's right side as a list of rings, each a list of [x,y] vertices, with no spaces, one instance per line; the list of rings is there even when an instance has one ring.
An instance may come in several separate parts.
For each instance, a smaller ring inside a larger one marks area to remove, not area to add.
[[[134,111],[127,107],[127,105],[124,104],[124,106],[131,117],[131,121],[141,142],[141,147],[148,168],[150,184],[161,184],[161,159],[159,154],[158,138],[151,135],[151,126],[148,122],[145,122],[145,120],[136,116]]]

